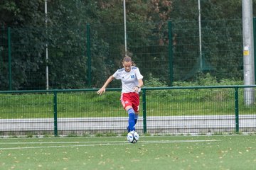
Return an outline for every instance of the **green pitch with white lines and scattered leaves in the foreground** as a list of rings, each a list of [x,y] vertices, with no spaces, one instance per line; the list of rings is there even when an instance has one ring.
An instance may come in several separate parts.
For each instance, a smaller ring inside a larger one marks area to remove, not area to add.
[[[256,135],[1,138],[0,169],[255,169]]]

